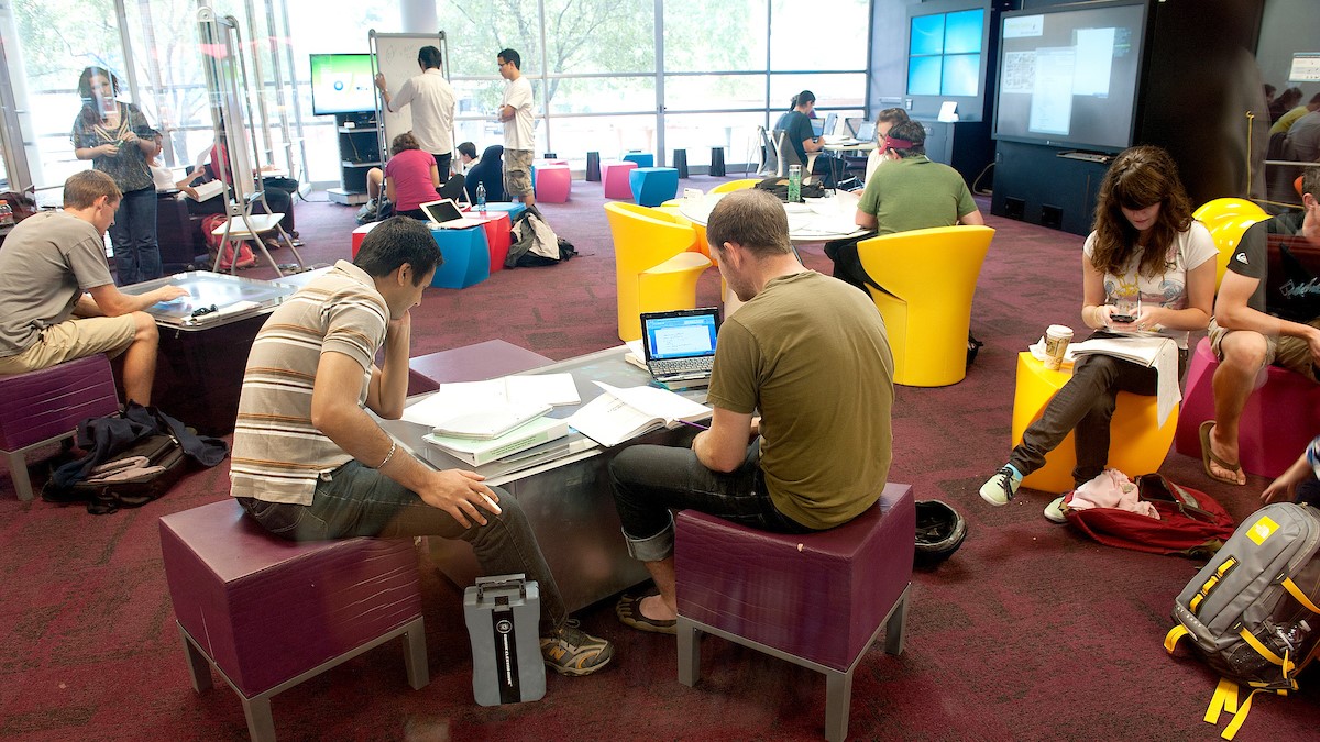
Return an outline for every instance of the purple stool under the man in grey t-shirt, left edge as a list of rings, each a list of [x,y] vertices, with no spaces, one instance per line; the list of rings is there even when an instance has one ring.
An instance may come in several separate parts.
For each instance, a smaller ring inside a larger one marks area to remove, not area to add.
[[[32,499],[25,458],[29,450],[73,437],[87,417],[116,412],[119,395],[104,355],[0,376],[0,453],[9,459],[18,499]]]

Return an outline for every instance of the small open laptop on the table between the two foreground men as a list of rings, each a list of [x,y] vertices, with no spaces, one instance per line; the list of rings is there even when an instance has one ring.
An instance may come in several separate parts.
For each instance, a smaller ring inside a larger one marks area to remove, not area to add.
[[[710,383],[715,363],[719,309],[678,309],[642,313],[642,349],[656,382]]]

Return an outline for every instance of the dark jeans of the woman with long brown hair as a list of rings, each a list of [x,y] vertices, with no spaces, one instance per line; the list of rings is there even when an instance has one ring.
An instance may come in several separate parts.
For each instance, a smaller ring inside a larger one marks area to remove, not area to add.
[[[1113,337],[1096,333],[1093,338]],[[1187,351],[1179,351],[1179,376],[1187,366]],[[1077,450],[1073,483],[1082,486],[1109,463],[1109,422],[1114,417],[1118,392],[1155,396],[1159,374],[1110,355],[1088,355],[1073,367],[1072,379],[1055,395],[1045,411],[1022,434],[1022,442],[1008,457],[1026,477],[1045,465],[1045,454],[1059,448],[1071,430]]]

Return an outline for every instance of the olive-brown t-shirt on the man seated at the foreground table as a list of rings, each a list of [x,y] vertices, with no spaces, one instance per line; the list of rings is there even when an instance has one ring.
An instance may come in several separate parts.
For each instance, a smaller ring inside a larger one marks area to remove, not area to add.
[[[855,288],[814,271],[766,284],[719,329],[709,401],[760,411],[766,486],[797,523],[847,523],[884,490],[894,356]]]

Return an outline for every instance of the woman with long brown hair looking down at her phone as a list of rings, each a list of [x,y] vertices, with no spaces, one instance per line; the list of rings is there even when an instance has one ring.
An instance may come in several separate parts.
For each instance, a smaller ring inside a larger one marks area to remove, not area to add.
[[[1100,186],[1094,231],[1082,247],[1081,317],[1093,338],[1147,335],[1177,343],[1179,372],[1187,363],[1187,334],[1204,330],[1214,306],[1214,256],[1210,234],[1192,219],[1192,206],[1177,166],[1158,147],[1121,153]],[[1122,310],[1119,309],[1122,306]],[[981,486],[981,496],[1002,506],[1022,478],[1045,463],[1045,454],[1076,430],[1081,486],[1104,471],[1109,459],[1109,421],[1118,392],[1155,395],[1154,368],[1109,355],[1080,358],[1072,379],[1022,436],[1008,462]],[[1063,498],[1045,518],[1063,522]]]

